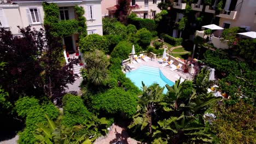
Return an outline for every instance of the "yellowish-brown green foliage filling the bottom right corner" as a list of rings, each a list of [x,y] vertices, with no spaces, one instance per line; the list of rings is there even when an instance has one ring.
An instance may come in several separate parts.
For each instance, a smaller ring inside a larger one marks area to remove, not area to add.
[[[239,101],[232,106],[214,107],[216,120],[211,129],[223,143],[254,143],[256,134],[255,107]]]

